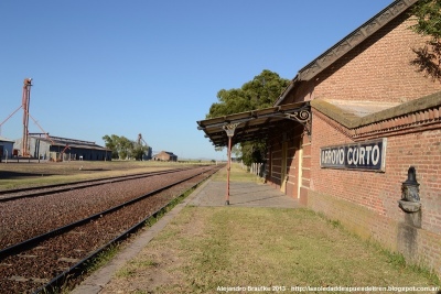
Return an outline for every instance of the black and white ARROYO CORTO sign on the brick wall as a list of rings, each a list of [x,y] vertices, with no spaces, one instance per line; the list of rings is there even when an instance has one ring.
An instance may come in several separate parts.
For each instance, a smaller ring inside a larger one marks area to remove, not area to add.
[[[387,139],[320,149],[320,167],[385,171]]]

